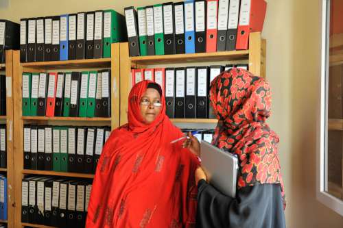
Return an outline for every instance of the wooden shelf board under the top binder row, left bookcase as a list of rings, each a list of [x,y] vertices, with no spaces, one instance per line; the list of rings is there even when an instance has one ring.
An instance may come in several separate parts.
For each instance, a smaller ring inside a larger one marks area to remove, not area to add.
[[[91,59],[91,60],[26,62],[26,63],[22,63],[21,66],[23,66],[24,68],[71,69],[71,68],[110,67],[110,64],[111,64],[110,58],[102,58],[102,59]]]

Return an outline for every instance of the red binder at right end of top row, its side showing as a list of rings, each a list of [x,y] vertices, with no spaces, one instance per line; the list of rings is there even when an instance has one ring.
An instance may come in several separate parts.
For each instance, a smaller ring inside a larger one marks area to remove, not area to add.
[[[250,32],[262,31],[265,10],[267,3],[264,0],[241,0],[236,50],[248,49]]]

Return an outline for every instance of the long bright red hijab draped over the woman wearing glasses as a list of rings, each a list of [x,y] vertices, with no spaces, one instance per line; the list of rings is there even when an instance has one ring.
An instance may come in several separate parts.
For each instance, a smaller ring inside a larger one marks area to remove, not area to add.
[[[145,124],[141,97],[152,81],[136,84],[129,95],[128,124],[104,145],[93,181],[86,227],[193,227],[196,217],[194,172],[198,160],[165,114]]]

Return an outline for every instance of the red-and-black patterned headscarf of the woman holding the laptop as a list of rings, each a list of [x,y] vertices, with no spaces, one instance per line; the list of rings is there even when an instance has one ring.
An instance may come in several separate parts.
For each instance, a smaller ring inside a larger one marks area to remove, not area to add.
[[[210,94],[220,120],[213,144],[238,155],[238,188],[280,183],[285,199],[277,148],[279,137],[265,123],[272,103],[268,83],[262,77],[233,68],[215,77]]]

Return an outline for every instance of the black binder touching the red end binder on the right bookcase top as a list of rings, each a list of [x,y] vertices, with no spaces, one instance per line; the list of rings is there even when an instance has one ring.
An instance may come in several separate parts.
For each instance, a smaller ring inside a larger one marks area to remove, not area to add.
[[[237,41],[237,27],[240,0],[230,0],[228,8],[228,32],[226,34],[226,51],[234,51]]]

